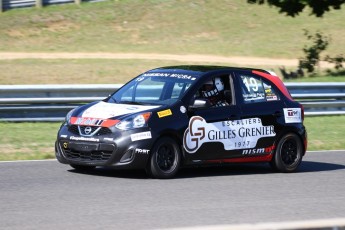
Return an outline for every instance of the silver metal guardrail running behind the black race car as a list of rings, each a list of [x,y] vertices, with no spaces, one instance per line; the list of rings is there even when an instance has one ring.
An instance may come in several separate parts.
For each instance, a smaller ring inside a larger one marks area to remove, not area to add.
[[[102,100],[121,84],[0,85],[0,121],[62,121],[78,105]],[[345,115],[345,83],[286,83],[306,116]]]

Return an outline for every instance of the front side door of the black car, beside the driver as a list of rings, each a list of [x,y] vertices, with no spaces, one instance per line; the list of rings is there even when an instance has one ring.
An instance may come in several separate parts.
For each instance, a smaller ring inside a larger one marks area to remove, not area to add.
[[[193,161],[217,160],[231,157],[235,133],[231,121],[240,118],[240,109],[236,105],[233,81],[230,74],[216,76],[224,83],[224,106],[205,106],[189,113],[189,126],[184,135],[186,154]],[[209,79],[208,79],[209,80]],[[202,88],[196,92],[200,98]],[[203,99],[207,102],[207,98]]]

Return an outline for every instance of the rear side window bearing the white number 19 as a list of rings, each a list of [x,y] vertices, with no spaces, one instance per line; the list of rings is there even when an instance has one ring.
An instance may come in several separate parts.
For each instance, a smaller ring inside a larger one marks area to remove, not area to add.
[[[241,75],[240,78],[244,103],[279,100],[279,96],[274,87],[268,82],[263,82],[260,77]]]

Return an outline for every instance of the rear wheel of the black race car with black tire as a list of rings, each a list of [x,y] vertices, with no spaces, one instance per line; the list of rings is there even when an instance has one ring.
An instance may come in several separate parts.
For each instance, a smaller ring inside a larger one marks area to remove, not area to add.
[[[280,172],[294,172],[300,165],[303,157],[301,139],[294,133],[283,136],[277,145],[271,166]]]

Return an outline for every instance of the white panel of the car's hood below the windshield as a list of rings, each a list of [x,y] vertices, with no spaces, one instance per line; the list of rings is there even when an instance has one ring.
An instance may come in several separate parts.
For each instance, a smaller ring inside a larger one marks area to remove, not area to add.
[[[114,104],[104,101],[98,102],[91,107],[85,109],[79,117],[108,119],[126,114],[138,113],[141,111],[159,108],[160,106],[152,105],[130,105],[130,104]]]

